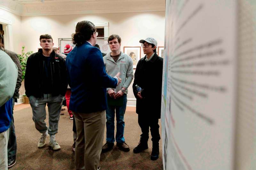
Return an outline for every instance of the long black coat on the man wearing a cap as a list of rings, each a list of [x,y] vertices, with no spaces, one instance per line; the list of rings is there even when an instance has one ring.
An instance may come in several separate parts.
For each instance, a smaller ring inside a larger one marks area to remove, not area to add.
[[[145,114],[146,116],[160,119],[163,58],[158,57],[155,53],[153,58],[148,62],[145,59],[146,56],[139,60],[134,73],[132,88],[134,96],[137,99],[136,112],[138,114]],[[136,84],[143,89],[141,92],[143,99],[137,97]]]

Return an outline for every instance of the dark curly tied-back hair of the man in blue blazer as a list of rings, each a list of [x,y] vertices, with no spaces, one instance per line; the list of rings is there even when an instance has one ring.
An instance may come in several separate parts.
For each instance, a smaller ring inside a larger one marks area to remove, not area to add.
[[[72,34],[72,42],[80,46],[90,40],[93,33],[96,32],[95,25],[90,21],[80,21],[76,24],[76,33]]]

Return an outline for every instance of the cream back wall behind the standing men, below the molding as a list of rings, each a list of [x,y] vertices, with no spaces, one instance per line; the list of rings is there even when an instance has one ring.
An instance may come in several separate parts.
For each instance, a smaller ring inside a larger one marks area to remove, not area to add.
[[[118,34],[122,38],[121,50],[124,46],[140,46],[139,40],[154,37],[158,46],[164,46],[165,12],[134,12],[84,15],[51,15],[21,18],[22,43],[27,50],[37,51],[40,47],[39,36],[50,34],[54,46],[58,46],[58,38],[69,38],[75,32],[75,23],[81,20],[92,22],[108,22],[109,35]],[[141,51],[141,57],[143,57]],[[135,70],[134,70],[135,71]],[[128,88],[128,98],[134,98],[132,85]],[[129,104],[128,104],[129,105]]]

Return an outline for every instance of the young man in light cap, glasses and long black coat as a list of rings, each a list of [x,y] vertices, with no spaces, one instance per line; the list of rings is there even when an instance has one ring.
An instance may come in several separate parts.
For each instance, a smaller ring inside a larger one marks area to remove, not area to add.
[[[134,74],[133,93],[136,97],[136,113],[142,134],[140,143],[133,149],[139,153],[148,149],[149,127],[152,135],[153,148],[151,160],[158,159],[159,155],[159,125],[161,117],[161,92],[163,58],[156,54],[157,42],[154,38],[148,37],[140,40],[146,56],[139,60]],[[140,87],[140,88],[138,88]]]

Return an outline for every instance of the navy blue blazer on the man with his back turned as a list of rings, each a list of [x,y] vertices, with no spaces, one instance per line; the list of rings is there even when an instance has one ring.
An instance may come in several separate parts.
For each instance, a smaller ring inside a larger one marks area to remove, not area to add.
[[[85,42],[69,52],[66,66],[71,87],[69,109],[79,113],[106,110],[106,88],[116,88],[117,79],[106,73],[100,50]]]

